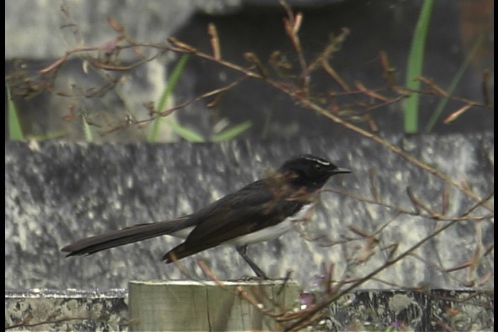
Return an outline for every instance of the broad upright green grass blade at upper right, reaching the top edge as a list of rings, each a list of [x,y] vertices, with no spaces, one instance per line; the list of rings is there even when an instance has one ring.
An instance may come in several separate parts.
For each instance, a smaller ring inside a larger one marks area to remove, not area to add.
[[[409,50],[408,65],[407,65],[407,80],[406,86],[408,89],[419,90],[421,83],[414,81],[416,77],[422,75],[423,59],[425,53],[425,40],[429,31],[430,18],[434,0],[425,0],[422,6],[421,13],[418,17],[418,22],[415,27],[415,32],[412,39],[412,46]],[[405,104],[405,133],[418,132],[418,105],[420,104],[420,95],[412,93],[407,98]]]

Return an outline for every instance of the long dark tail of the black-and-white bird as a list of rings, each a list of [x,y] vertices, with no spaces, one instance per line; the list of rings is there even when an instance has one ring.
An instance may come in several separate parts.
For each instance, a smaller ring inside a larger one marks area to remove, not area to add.
[[[80,241],[65,246],[61,251],[68,252],[66,257],[91,255],[101,250],[177,232],[189,226],[185,225],[186,219],[187,216],[168,221],[160,221],[158,223],[131,225],[122,230],[114,230],[112,232],[81,239]]]

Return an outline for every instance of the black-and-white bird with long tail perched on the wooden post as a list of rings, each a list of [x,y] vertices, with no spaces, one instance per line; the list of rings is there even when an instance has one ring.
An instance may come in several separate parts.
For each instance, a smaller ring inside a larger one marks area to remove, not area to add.
[[[248,244],[277,239],[296,221],[309,218],[317,194],[335,174],[351,173],[324,158],[304,154],[287,160],[275,174],[250,183],[205,208],[168,221],[131,225],[76,241],[61,250],[90,255],[127,243],[172,235],[185,239],[162,260],[171,263],[197,252],[232,244],[258,277],[265,273],[246,255]]]

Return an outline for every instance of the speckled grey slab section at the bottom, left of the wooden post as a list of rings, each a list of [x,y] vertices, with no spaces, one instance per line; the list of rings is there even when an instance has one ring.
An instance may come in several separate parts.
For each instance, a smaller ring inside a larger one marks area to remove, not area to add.
[[[10,331],[128,331],[124,289],[6,291],[5,327]]]

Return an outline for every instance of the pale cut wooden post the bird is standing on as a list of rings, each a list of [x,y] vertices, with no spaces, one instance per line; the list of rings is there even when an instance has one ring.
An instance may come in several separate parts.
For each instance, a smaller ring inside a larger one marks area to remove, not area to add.
[[[130,331],[279,329],[265,312],[297,306],[296,282],[129,282]]]

